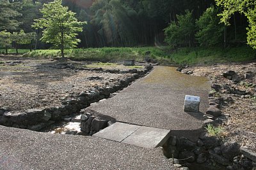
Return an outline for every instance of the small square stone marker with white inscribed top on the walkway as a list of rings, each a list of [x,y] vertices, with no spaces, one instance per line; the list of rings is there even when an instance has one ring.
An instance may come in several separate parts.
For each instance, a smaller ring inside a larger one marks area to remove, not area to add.
[[[200,97],[198,96],[185,96],[184,111],[199,112]]]

